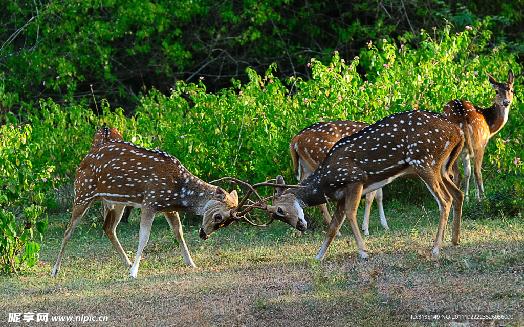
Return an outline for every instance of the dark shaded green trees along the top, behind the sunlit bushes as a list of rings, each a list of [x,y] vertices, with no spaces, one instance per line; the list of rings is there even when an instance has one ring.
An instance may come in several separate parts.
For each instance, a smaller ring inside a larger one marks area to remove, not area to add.
[[[205,77],[209,91],[247,82],[246,67],[308,79],[311,58],[353,58],[377,38],[418,47],[421,28],[479,20],[521,52],[524,1],[53,0],[0,2],[0,73],[22,102],[106,98],[130,112],[139,93]],[[453,29],[452,29],[453,31]],[[361,71],[365,74],[365,71]],[[93,109],[94,105],[89,104]]]

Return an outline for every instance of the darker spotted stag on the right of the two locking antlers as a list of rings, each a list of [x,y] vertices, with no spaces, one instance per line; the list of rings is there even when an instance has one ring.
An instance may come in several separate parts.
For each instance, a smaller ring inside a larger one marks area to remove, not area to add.
[[[358,250],[367,258],[367,247],[356,223],[356,210],[362,194],[391,183],[395,178],[414,173],[428,186],[440,210],[439,227],[433,255],[440,253],[450,207],[453,207],[451,242],[459,243],[464,195],[450,179],[452,163],[464,144],[458,125],[431,111],[399,112],[340,139],[324,161],[298,186],[283,186],[282,176],[275,184],[272,205],[267,210],[275,219],[291,226],[303,220],[305,207],[336,201],[328,236],[316,256],[322,260],[344,219],[349,220]]]

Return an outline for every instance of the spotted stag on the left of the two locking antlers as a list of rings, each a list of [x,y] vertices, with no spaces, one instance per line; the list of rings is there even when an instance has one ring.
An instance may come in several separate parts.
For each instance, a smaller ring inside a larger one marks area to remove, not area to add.
[[[105,201],[108,214],[103,230],[124,265],[136,277],[141,255],[149,239],[156,213],[162,212],[176,235],[184,262],[195,267],[178,212],[228,218],[238,210],[236,191],[227,193],[191,174],[175,157],[165,151],[141,148],[126,141],[110,141],[86,155],[75,174],[71,221],[65,231],[52,276],[60,270],[65,246],[80,219],[93,201]],[[133,265],[116,236],[116,227],[125,206],[141,209],[138,250]]]

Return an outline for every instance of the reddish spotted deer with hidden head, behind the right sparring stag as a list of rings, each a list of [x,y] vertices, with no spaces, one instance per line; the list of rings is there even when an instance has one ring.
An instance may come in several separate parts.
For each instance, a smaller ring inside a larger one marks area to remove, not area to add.
[[[291,160],[298,181],[302,182],[319,167],[328,151],[337,141],[346,136],[350,136],[367,126],[369,126],[369,124],[366,122],[339,120],[317,122],[301,130],[291,140],[289,145]],[[377,201],[380,224],[386,230],[389,230],[386,215],[384,214],[384,207],[382,205],[382,198],[381,188],[366,194],[366,209],[364,211],[364,221],[362,223],[364,235],[369,235],[369,215],[371,213],[373,199],[376,199]],[[318,206],[318,208],[320,209],[322,217],[326,223],[330,225],[331,215],[326,204],[322,204]],[[337,235],[341,236],[340,233]]]

